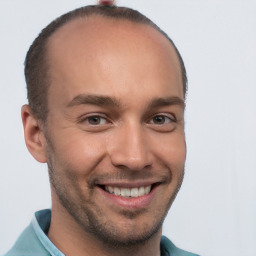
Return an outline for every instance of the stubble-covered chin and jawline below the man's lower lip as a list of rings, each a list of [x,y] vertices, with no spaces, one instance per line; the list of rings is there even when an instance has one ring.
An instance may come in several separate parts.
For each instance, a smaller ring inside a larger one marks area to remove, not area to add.
[[[77,204],[66,200],[63,194],[58,197],[62,206],[87,236],[110,248],[138,246],[157,235],[160,236],[168,210],[155,211],[154,215],[144,211],[108,214],[107,211],[99,208],[97,211],[92,210],[86,203]],[[80,207],[77,207],[78,205]]]

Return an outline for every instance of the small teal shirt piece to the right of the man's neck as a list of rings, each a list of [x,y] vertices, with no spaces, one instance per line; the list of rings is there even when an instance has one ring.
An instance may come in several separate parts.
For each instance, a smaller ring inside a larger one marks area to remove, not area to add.
[[[191,252],[184,251],[176,247],[167,237],[162,236],[161,238],[161,255],[171,255],[171,256],[199,256]]]

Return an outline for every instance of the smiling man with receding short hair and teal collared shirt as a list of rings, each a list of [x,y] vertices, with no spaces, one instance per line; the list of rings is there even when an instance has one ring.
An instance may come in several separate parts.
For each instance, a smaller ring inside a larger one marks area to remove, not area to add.
[[[186,157],[186,71],[167,35],[109,2],[80,8],[41,32],[25,76],[25,141],[48,164],[52,209],[6,255],[195,255],[161,237]]]

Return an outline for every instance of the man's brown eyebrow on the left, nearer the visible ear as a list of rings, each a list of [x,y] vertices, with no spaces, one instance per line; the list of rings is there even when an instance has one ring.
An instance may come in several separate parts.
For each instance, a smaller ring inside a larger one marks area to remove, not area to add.
[[[73,98],[69,103],[68,107],[91,104],[102,107],[121,107],[121,103],[112,97],[101,96],[101,95],[88,95],[88,94],[79,94]]]

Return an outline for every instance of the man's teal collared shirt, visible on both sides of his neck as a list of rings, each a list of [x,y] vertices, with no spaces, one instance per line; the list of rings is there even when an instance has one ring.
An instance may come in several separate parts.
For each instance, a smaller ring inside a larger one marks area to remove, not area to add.
[[[65,256],[47,237],[51,211],[35,213],[30,225],[22,232],[12,249],[3,256]],[[177,248],[168,238],[161,239],[161,256],[198,256]]]

